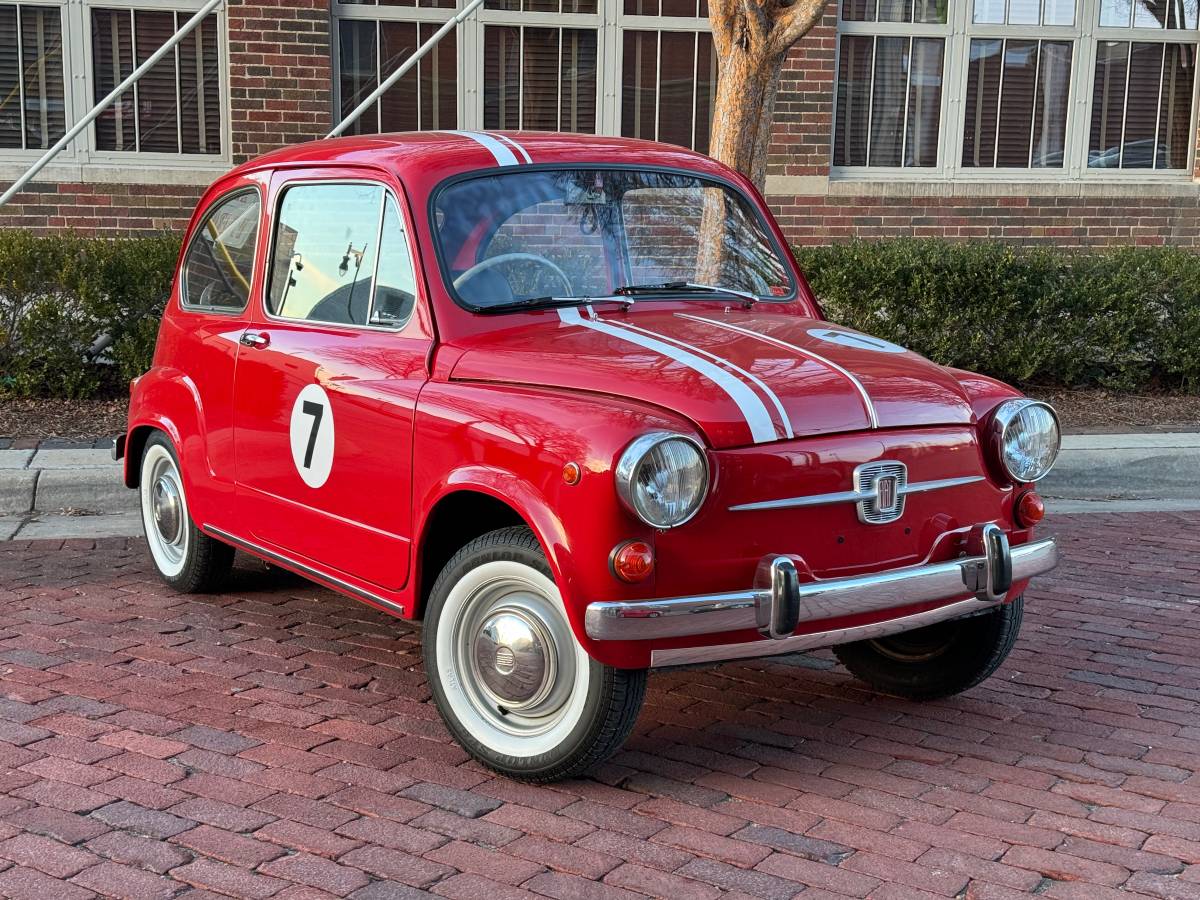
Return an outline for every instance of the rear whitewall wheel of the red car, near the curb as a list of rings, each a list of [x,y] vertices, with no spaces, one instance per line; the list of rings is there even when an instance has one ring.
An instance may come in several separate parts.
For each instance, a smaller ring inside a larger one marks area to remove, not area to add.
[[[234,550],[192,521],[175,448],[155,432],[142,451],[142,526],[160,577],[184,593],[217,590],[233,568]]]

